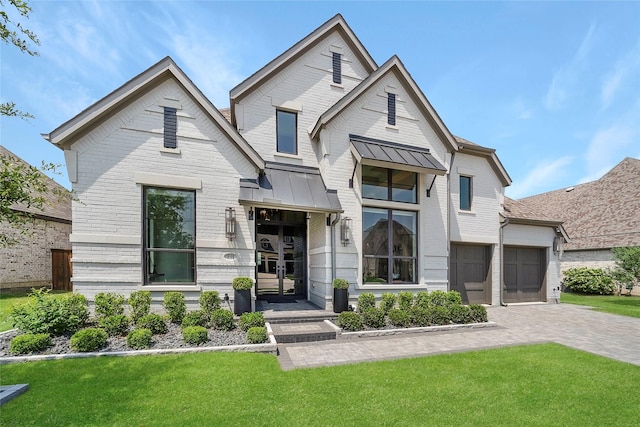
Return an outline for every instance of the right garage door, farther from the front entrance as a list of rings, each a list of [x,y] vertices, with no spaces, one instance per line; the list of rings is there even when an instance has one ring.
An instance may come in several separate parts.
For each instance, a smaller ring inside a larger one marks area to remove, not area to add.
[[[504,248],[504,302],[543,301],[545,249]]]

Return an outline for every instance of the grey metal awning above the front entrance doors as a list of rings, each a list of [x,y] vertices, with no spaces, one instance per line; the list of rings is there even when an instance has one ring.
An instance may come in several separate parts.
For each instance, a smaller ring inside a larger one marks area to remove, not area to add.
[[[240,203],[306,212],[341,212],[336,190],[327,190],[320,170],[267,162],[255,179],[240,180]]]

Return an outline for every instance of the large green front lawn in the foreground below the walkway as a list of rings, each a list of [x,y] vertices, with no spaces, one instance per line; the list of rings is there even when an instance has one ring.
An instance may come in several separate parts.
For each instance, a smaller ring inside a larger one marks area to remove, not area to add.
[[[640,367],[558,344],[283,372],[272,355],[0,366],[0,425],[636,425]]]

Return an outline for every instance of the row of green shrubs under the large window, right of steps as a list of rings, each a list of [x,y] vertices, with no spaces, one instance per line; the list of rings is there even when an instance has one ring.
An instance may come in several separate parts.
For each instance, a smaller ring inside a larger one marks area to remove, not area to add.
[[[379,304],[373,293],[358,297],[356,311],[338,315],[338,326],[347,331],[365,328],[381,329],[388,325],[397,328],[436,326],[487,321],[487,309],[479,304],[462,305],[456,291],[384,293]]]

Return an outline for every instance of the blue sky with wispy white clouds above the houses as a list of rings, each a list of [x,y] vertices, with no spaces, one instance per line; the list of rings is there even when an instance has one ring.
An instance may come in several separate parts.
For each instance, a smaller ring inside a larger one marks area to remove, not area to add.
[[[640,158],[640,2],[29,4],[40,56],[0,47],[0,98],[36,118],[2,117],[0,143],[34,165],[64,162],[41,133],[163,57],[224,108],[231,88],[336,13],[378,64],[400,57],[452,133],[497,150],[510,197]]]

